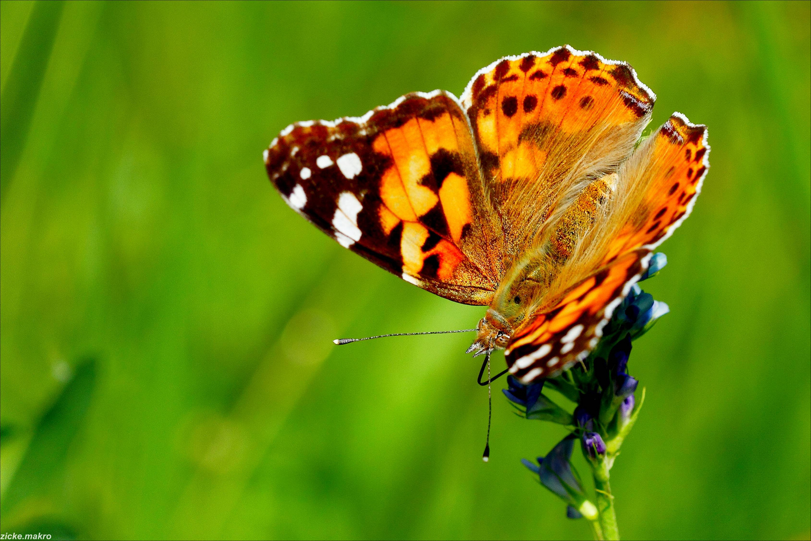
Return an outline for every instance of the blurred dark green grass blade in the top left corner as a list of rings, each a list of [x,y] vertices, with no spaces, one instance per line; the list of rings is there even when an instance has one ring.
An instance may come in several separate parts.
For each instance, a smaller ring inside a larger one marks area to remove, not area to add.
[[[28,127],[39,99],[42,79],[62,18],[64,2],[38,0],[31,11],[23,39],[11,66],[0,105],[0,201],[14,177],[28,138]]]

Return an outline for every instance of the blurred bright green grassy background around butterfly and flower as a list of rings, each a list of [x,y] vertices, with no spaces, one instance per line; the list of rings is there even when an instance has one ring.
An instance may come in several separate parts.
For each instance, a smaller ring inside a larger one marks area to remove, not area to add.
[[[577,539],[471,328],[285,206],[281,128],[461,94],[505,54],[630,62],[710,127],[646,290],[628,539],[809,539],[809,2],[2,2],[2,531]],[[497,359],[502,363],[501,357]],[[579,452],[578,452],[579,454]],[[581,471],[586,468],[581,467]]]

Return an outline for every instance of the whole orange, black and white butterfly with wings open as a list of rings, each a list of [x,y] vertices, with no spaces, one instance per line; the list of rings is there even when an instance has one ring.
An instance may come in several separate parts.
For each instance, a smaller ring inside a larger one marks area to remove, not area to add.
[[[525,384],[585,359],[689,216],[707,129],[625,62],[569,45],[500,58],[461,98],[414,92],[363,117],[296,122],[272,183],[341,246],[431,293],[487,306],[468,352]]]

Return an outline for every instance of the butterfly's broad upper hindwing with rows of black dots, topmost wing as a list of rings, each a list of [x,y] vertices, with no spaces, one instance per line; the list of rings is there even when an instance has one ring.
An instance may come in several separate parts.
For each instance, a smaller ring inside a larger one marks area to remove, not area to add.
[[[589,182],[617,169],[654,100],[629,65],[568,45],[503,58],[474,76],[461,103],[506,255],[539,241]]]

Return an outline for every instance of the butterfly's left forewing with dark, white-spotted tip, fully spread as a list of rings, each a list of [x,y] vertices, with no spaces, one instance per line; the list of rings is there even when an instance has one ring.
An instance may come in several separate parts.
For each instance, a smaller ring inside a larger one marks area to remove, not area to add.
[[[453,95],[418,92],[363,118],[298,122],[264,161],[285,202],[341,246],[431,293],[490,302],[499,228]]]

